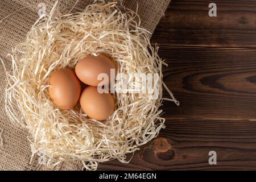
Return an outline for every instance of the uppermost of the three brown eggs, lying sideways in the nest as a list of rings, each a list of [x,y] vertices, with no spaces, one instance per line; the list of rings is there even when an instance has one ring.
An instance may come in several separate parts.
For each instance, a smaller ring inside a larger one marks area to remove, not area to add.
[[[110,82],[110,69],[114,70],[113,77],[117,75],[117,69],[112,60],[103,55],[84,57],[76,64],[77,77],[87,85],[102,86]],[[108,79],[97,80],[100,73],[106,73]]]

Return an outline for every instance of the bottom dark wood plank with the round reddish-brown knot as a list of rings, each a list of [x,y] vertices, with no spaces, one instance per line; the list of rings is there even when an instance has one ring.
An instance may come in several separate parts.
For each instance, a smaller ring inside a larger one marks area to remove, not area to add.
[[[216,151],[217,165],[210,165]],[[158,138],[135,152],[129,164],[101,163],[102,170],[256,169],[256,123],[167,119]],[[130,157],[130,155],[129,155]]]

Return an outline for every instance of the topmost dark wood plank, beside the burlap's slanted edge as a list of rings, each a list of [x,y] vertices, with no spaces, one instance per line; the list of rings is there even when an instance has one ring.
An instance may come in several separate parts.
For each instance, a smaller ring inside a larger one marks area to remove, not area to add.
[[[152,43],[162,46],[256,47],[256,1],[216,0],[217,17],[209,17],[210,0],[172,0]]]

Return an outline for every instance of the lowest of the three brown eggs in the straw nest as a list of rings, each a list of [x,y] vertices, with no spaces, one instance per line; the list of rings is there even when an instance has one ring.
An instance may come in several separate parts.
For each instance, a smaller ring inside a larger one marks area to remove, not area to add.
[[[81,94],[80,105],[88,117],[102,121],[113,114],[115,102],[112,94],[101,94],[96,86],[88,86]]]

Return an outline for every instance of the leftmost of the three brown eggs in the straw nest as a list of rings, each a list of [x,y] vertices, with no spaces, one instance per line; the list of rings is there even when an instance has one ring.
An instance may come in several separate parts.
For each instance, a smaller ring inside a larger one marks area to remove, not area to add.
[[[49,77],[49,96],[59,109],[72,109],[79,100],[81,84],[71,69],[62,68]]]

